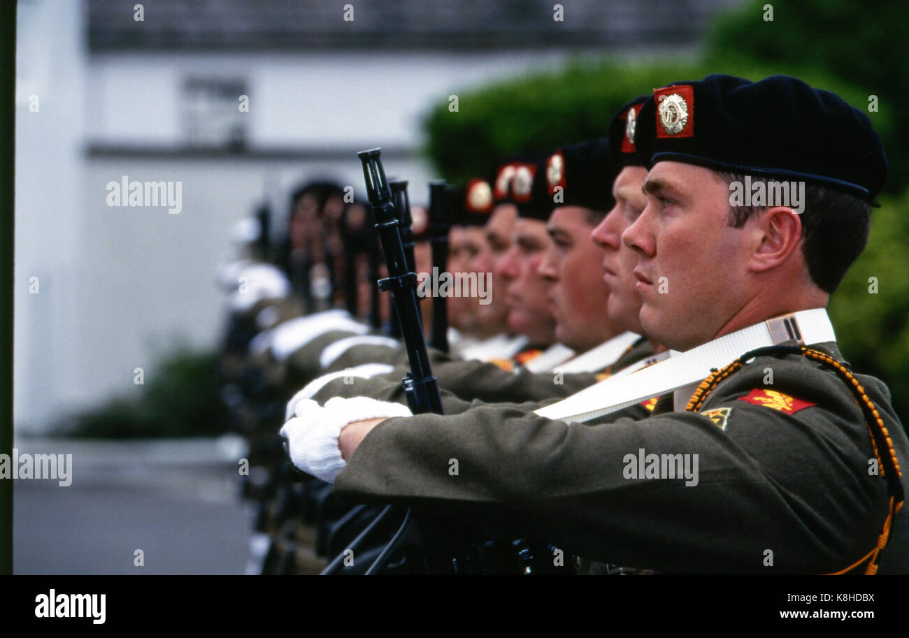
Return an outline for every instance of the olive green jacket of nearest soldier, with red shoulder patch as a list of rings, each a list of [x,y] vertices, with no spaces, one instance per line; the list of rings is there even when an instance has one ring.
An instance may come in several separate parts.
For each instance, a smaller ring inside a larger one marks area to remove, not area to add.
[[[814,347],[841,359],[835,344]],[[764,384],[767,368],[773,385]],[[909,443],[889,392],[874,377],[856,379],[888,430],[906,489]],[[887,487],[873,472],[859,404],[830,367],[800,354],[759,356],[697,412],[622,414],[566,424],[519,405],[473,404],[386,419],[338,474],[335,494],[408,503],[494,537],[544,538],[660,572],[832,573],[878,543]],[[696,454],[696,484],[630,478],[640,454]],[[907,512],[895,516],[880,573],[909,573]]]

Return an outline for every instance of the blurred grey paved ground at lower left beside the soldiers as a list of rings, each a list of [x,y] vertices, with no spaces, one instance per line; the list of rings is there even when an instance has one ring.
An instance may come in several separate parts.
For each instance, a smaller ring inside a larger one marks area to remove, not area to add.
[[[17,439],[20,454],[73,454],[72,484],[17,480],[14,573],[243,573],[250,514],[233,439]],[[135,550],[145,566],[134,564]]]

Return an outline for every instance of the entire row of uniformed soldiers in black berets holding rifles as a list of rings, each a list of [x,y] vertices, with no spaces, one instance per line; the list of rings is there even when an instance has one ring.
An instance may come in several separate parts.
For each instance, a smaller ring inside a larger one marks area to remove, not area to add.
[[[331,571],[364,573],[401,523],[385,503],[429,530],[389,572],[906,571],[909,444],[824,312],[885,174],[868,118],[837,96],[710,75],[634,98],[608,137],[449,189],[446,270],[491,274],[492,294],[447,300],[451,351],[429,356],[445,416],[411,414],[405,348],[363,314],[381,275],[365,208],[323,210],[340,237],[301,254],[309,281],[321,263],[326,281],[363,284],[345,286],[362,292],[343,295],[348,310],[288,308],[290,286],[254,284],[249,264],[232,292],[256,333],[225,396],[251,414],[262,571],[337,556]],[[804,180],[804,213],[734,206],[744,176]],[[413,216],[419,239],[428,224]],[[429,271],[425,244],[415,254]],[[654,453],[678,473],[651,475]],[[445,521],[472,526],[454,567],[426,558]],[[365,530],[371,543],[355,543]]]

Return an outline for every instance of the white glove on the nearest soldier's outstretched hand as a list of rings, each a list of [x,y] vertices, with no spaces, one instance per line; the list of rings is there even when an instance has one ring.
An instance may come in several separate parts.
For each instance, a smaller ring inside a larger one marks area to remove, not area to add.
[[[287,440],[287,454],[297,468],[326,483],[335,483],[335,476],[344,469],[338,437],[347,424],[412,414],[406,405],[368,396],[335,396],[325,407],[312,399],[302,399],[294,412],[296,416],[281,428],[281,435]]]

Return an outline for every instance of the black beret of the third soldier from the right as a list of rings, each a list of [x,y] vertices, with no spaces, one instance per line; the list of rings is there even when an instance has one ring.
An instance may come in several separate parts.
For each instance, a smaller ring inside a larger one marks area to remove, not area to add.
[[[606,212],[615,204],[612,190],[621,167],[605,137],[563,146],[546,160],[545,196],[552,207],[583,206]],[[557,189],[561,194],[557,196]]]

